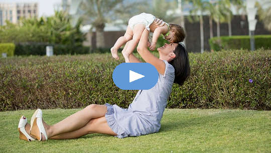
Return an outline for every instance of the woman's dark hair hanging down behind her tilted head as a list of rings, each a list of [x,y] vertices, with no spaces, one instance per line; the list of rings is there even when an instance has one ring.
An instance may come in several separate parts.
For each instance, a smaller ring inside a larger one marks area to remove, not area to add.
[[[174,50],[176,57],[169,62],[175,69],[174,83],[183,85],[190,75],[188,53],[183,44],[178,44]]]

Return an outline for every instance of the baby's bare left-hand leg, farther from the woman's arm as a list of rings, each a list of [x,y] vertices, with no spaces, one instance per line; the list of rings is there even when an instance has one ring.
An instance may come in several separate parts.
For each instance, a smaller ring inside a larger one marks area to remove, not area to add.
[[[118,56],[117,56],[117,50],[127,41],[132,39],[132,29],[128,26],[126,29],[126,32],[124,34],[124,36],[121,36],[117,39],[115,45],[110,49],[111,50],[111,54],[112,57],[116,60],[118,60]]]

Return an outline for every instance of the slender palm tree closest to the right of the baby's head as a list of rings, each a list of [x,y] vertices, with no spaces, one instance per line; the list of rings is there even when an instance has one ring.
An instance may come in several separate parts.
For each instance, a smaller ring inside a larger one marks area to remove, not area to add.
[[[203,17],[202,13],[206,11],[208,8],[208,3],[207,2],[202,2],[201,0],[191,0],[190,2],[193,3],[193,8],[190,10],[190,15],[195,16],[198,18],[194,18],[196,20],[199,20],[200,22],[200,52],[204,52],[204,31],[203,31]]]

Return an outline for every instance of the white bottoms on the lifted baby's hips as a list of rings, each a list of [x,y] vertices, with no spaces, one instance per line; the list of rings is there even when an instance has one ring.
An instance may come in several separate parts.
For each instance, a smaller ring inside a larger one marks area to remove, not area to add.
[[[133,27],[137,24],[144,24],[145,28],[150,31],[150,25],[156,19],[152,14],[142,13],[140,15],[136,15],[130,18],[128,22],[128,26],[133,29]]]

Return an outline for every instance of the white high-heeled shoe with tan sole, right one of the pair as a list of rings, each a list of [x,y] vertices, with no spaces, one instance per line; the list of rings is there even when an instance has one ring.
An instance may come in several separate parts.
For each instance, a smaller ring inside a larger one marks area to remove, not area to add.
[[[42,110],[37,109],[33,116],[31,117],[31,128],[30,134],[35,135],[39,141],[42,139],[42,133],[45,136],[45,140],[47,140],[47,134],[42,122]]]

